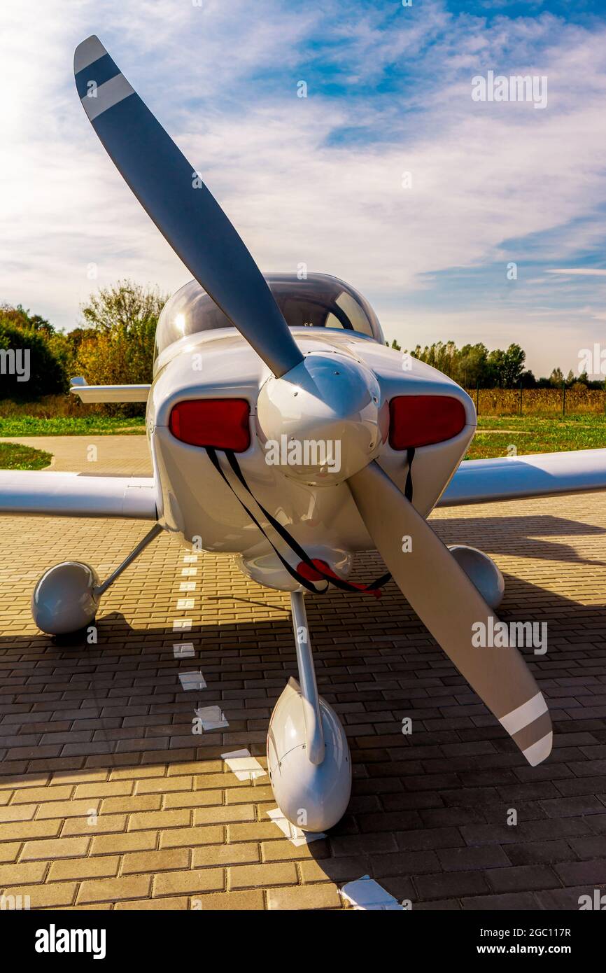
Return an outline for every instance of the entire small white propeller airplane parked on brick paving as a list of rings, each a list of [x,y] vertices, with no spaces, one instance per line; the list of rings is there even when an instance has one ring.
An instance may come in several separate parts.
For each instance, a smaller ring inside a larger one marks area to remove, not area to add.
[[[153,526],[100,582],[88,564],[50,568],[32,595],[51,634],[79,631],[100,596],[162,530],[235,556],[248,577],[290,592],[299,682],[273,710],[267,761],[278,807],[308,831],[339,821],[351,762],[318,695],[305,592],[348,581],[376,550],[447,656],[534,766],[552,749],[542,693],[516,647],[481,648],[503,578],[480,551],[447,549],[436,506],[606,489],[606,450],[463,461],[476,430],[467,393],[385,346],[374,311],[325,274],[257,268],[216,200],[96,37],[76,50],[76,86],[126,183],[195,279],[164,306],[151,385],[89,386],[84,402],[147,401],[154,476],[0,472],[0,513],[124,517]]]

